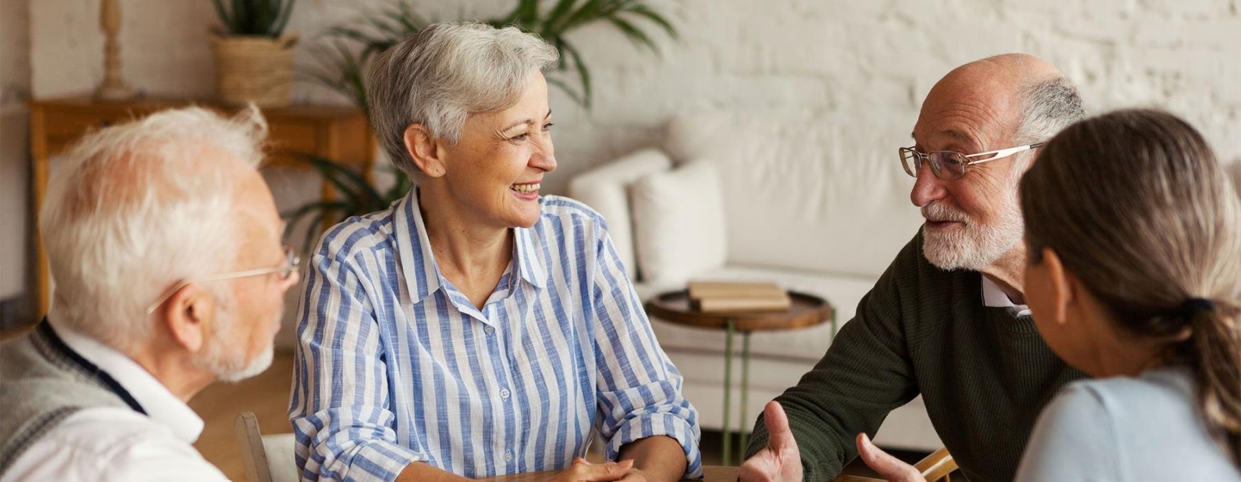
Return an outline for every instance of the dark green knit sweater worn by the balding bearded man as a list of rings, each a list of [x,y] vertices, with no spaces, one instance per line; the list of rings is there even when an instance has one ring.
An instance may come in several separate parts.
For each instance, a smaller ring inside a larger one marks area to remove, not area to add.
[[[1039,337],[1029,316],[983,306],[982,275],[922,256],[922,234],[892,261],[828,353],[778,400],[807,481],[827,481],[858,456],[892,409],[918,394],[972,482],[1010,481],[1051,397],[1085,377]],[[762,416],[746,456],[767,445]]]

